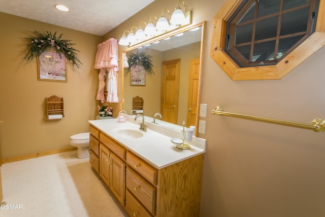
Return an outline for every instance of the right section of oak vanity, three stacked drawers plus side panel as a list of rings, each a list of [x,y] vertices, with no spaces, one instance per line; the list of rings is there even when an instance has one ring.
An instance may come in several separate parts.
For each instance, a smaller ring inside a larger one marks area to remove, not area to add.
[[[199,216],[204,154],[155,169],[126,152],[125,209],[131,216]],[[137,204],[137,205],[136,205]]]

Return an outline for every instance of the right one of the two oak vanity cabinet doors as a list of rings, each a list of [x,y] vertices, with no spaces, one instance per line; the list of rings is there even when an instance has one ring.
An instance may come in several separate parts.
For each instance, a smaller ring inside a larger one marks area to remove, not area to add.
[[[116,154],[111,153],[111,183],[110,189],[117,198],[117,200],[122,204],[124,202],[124,190],[125,190],[125,162],[122,161]]]

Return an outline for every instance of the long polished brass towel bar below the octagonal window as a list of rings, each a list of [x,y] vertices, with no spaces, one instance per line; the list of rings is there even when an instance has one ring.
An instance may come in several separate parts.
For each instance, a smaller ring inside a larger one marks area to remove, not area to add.
[[[215,109],[212,110],[212,114],[219,114],[219,115],[231,116],[231,117],[239,117],[239,118],[263,121],[263,122],[268,122],[268,123],[276,123],[278,125],[285,125],[285,126],[296,127],[296,128],[304,128],[304,129],[309,129],[309,130],[313,130],[316,132],[325,131],[325,120],[319,119],[319,118],[314,119],[311,122],[311,124],[300,123],[300,122],[293,122],[293,121],[287,121],[287,120],[278,120],[278,119],[272,119],[272,118],[256,117],[256,116],[250,116],[250,115],[245,115],[245,114],[224,112],[223,108],[221,108],[220,106],[215,107]]]

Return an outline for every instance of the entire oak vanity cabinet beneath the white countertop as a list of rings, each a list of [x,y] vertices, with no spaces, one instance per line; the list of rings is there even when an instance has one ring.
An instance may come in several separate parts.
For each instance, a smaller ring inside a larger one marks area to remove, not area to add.
[[[159,169],[92,128],[90,140],[99,141],[99,174],[130,216],[199,216],[203,153]]]

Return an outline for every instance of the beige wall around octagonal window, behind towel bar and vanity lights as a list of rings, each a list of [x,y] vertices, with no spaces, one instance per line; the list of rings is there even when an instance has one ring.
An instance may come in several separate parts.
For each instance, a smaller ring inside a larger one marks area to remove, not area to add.
[[[281,80],[232,81],[210,57],[213,17],[224,1],[186,0],[192,22],[207,21],[201,102],[208,104],[201,216],[324,216],[325,133],[212,115],[225,111],[310,123],[325,118],[323,59],[317,51]],[[175,8],[156,0],[104,38]],[[121,48],[122,50],[122,48]],[[121,53],[121,52],[120,52]]]

